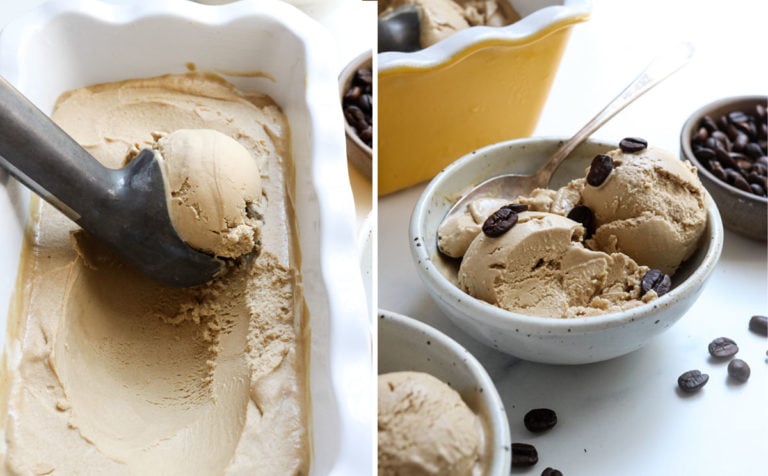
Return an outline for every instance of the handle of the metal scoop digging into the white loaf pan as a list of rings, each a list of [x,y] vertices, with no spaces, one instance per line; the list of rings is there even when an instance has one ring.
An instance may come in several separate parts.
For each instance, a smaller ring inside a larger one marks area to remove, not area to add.
[[[114,195],[115,174],[0,77],[0,166],[72,220]]]

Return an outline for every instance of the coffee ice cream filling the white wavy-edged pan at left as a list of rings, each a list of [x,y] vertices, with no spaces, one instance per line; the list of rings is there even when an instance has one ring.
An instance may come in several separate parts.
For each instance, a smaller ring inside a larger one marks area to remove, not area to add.
[[[308,330],[280,108],[190,73],[70,91],[53,118],[109,167],[155,146],[169,165],[190,160],[170,190],[189,179],[180,204],[197,203],[213,235],[222,217],[253,217],[241,202],[229,223],[228,191],[205,190],[221,183],[202,162],[240,157],[260,248],[206,285],[166,288],[35,200],[5,347],[2,472],[307,474]]]

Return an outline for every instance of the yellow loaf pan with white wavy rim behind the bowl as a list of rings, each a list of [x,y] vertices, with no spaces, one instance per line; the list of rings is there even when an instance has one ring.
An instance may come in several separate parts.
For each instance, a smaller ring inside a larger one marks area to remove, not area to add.
[[[533,133],[590,0],[509,0],[520,20],[413,53],[378,54],[378,193],[429,180],[479,147]]]

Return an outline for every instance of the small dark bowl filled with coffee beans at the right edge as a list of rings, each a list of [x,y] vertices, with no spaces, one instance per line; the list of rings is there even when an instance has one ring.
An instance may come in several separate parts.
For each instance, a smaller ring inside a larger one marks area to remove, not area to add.
[[[768,119],[766,96],[726,98],[710,103],[686,121],[681,155],[717,203],[723,225],[765,241],[768,218]]]

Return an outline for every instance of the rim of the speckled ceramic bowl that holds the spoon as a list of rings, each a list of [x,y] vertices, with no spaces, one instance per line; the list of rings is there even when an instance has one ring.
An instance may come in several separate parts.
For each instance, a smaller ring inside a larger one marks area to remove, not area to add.
[[[708,232],[705,232],[702,240],[708,241],[708,247],[706,253],[701,258],[701,265],[699,265],[690,274],[690,276],[685,279],[685,281],[680,283],[680,285],[650,303],[646,303],[641,306],[620,312],[613,312],[584,318],[558,319],[542,316],[529,316],[506,311],[485,301],[474,298],[463,292],[461,289],[459,289],[458,286],[452,284],[432,262],[432,257],[428,256],[427,254],[427,247],[421,246],[420,244],[421,241],[425,241],[425,237],[423,236],[424,219],[428,214],[427,212],[431,209],[433,197],[438,195],[443,182],[451,177],[457,169],[460,169],[467,163],[481,161],[484,155],[490,151],[499,148],[517,148],[528,144],[541,142],[557,143],[565,139],[566,138],[563,137],[530,137],[523,139],[513,139],[491,144],[474,152],[470,152],[469,154],[453,162],[451,165],[443,169],[443,171],[441,171],[437,176],[435,176],[435,178],[430,181],[430,183],[427,185],[427,188],[419,198],[411,215],[411,223],[409,229],[409,246],[411,248],[411,254],[414,260],[418,263],[417,269],[420,277],[425,280],[428,288],[430,288],[430,291],[439,293],[441,300],[446,301],[447,304],[454,309],[460,310],[464,316],[471,316],[462,317],[462,319],[475,320],[477,323],[484,325],[504,327],[515,325],[525,327],[525,329],[536,329],[539,331],[546,330],[548,335],[552,336],[588,334],[607,328],[628,325],[633,322],[641,321],[643,318],[647,318],[650,315],[661,314],[659,311],[663,311],[664,309],[673,306],[675,303],[685,298],[686,296],[693,294],[698,287],[697,284],[703,283],[712,273],[712,270],[717,264],[720,253],[722,251],[723,225],[720,219],[717,205],[709,193],[705,190],[708,202]],[[585,144],[606,146],[609,148],[616,147],[613,144],[596,139],[589,139],[585,141]],[[706,241],[702,241],[702,246],[707,244]]]

